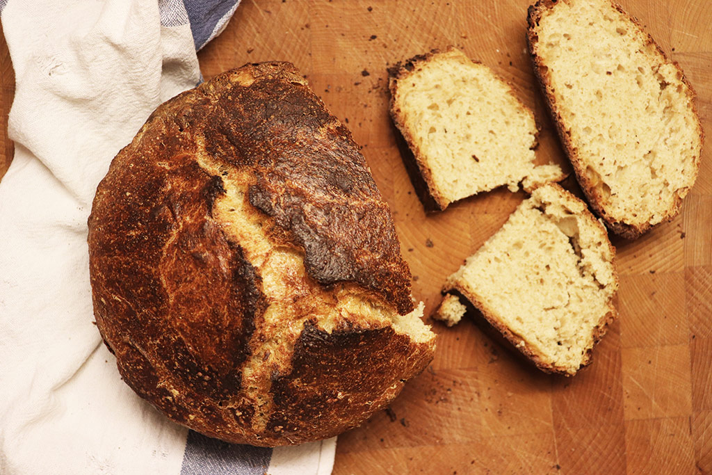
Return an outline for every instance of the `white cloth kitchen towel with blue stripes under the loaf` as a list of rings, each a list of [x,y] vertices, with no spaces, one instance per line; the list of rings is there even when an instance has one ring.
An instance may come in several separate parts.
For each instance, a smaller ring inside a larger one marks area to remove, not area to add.
[[[329,474],[335,439],[263,449],[169,422],[93,325],[86,222],[112,158],[200,80],[239,0],[0,0],[16,76],[0,182],[0,474]]]

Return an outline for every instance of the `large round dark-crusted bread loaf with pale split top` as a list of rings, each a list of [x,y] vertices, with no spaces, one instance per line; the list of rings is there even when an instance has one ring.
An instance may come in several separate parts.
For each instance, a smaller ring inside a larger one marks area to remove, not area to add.
[[[88,225],[96,322],[123,379],[202,434],[331,437],[432,359],[387,204],[289,63],[159,106]]]

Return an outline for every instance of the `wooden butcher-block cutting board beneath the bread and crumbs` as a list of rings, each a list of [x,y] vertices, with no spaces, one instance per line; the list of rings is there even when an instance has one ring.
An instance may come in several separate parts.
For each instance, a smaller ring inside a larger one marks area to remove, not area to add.
[[[698,93],[712,133],[712,4],[622,0]],[[247,62],[295,63],[352,130],[390,204],[426,314],[444,278],[523,193],[498,189],[426,215],[394,142],[386,68],[459,46],[535,110],[538,160],[565,165],[525,54],[528,0],[244,0],[199,54],[205,78]],[[13,95],[0,51],[4,120]],[[11,143],[0,147],[0,176]],[[4,150],[5,155],[2,155]],[[634,242],[614,239],[619,320],[572,378],[545,375],[472,320],[438,323],[436,357],[389,410],[337,444],[334,474],[712,474],[712,157],[703,151],[681,215]],[[568,165],[565,165],[569,167]],[[570,167],[569,167],[570,169]],[[577,191],[572,179],[567,188]]]

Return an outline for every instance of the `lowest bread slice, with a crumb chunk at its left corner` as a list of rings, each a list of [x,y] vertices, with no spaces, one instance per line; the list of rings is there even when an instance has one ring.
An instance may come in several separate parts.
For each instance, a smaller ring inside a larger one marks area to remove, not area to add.
[[[574,375],[616,315],[614,254],[586,204],[546,184],[449,276],[444,291],[464,296],[541,370]],[[446,308],[456,309],[453,298],[446,295]],[[459,320],[464,307],[456,313],[434,317]]]

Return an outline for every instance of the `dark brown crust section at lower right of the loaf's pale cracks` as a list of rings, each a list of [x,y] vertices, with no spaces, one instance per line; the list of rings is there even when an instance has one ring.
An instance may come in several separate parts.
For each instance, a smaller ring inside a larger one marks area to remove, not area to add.
[[[288,434],[318,420],[321,438],[360,424],[383,409],[414,368],[430,358],[424,347],[392,328],[327,333],[307,322],[295,344],[292,371],[273,377],[274,412],[267,431]]]

